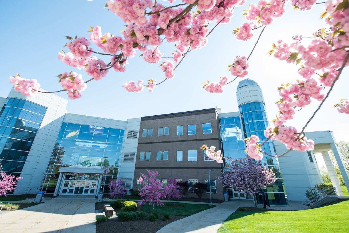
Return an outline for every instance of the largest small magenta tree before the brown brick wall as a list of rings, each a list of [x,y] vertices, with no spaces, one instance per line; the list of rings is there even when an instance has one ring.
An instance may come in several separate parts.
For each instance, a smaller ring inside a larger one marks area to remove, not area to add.
[[[165,192],[161,189],[161,181],[155,179],[157,175],[157,172],[148,170],[148,175],[142,174],[138,180],[144,184],[144,187],[139,190],[142,200],[138,204],[144,205],[149,202],[149,205],[153,206],[153,212],[155,212],[155,204],[158,206],[164,204],[160,198],[166,197]]]

